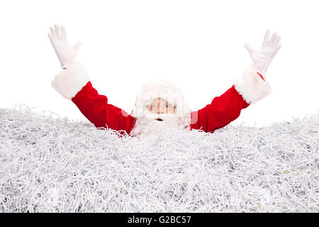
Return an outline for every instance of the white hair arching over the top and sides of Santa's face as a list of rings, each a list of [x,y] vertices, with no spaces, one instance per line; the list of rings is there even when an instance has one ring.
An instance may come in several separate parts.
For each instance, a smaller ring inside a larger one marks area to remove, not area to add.
[[[138,94],[131,116],[142,118],[154,99],[161,98],[174,106],[175,114],[190,121],[191,109],[181,90],[172,82],[156,79],[147,82]]]

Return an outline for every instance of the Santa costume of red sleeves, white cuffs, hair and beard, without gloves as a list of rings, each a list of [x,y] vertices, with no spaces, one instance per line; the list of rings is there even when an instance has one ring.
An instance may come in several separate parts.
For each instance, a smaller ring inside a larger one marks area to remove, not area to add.
[[[79,62],[69,65],[52,80],[55,88],[66,99],[77,105],[96,128],[112,128],[121,134],[147,134],[163,131],[164,128],[180,127],[201,129],[213,133],[240,116],[240,111],[250,104],[263,99],[271,92],[269,82],[250,65],[237,77],[234,84],[210,104],[191,111],[180,89],[174,84],[157,80],[145,84],[137,96],[131,114],[108,103],[105,95],[99,94],[92,86],[88,74]],[[152,114],[147,110],[150,102],[160,97],[176,106],[175,114]],[[155,119],[161,117],[163,121]]]

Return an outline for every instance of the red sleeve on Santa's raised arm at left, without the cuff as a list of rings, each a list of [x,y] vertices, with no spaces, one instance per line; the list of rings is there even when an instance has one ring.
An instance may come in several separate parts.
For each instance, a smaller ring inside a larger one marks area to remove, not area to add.
[[[84,116],[94,123],[96,128],[112,128],[116,131],[130,133],[135,126],[136,118],[127,114],[123,109],[108,104],[108,98],[99,94],[91,82],[72,98],[74,104]],[[123,133],[121,132],[123,135]]]

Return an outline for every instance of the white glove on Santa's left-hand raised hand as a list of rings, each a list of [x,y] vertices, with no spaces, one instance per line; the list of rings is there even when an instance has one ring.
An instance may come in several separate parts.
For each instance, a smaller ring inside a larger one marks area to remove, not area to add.
[[[67,33],[65,32],[64,26],[59,27],[55,25],[55,28],[51,27],[50,29],[51,33],[49,33],[49,38],[51,40],[52,46],[55,49],[57,58],[59,58],[61,62],[62,68],[66,68],[67,65],[72,64],[72,62],[75,60],[75,57],[77,57],[77,52],[81,42],[78,41],[73,46],[69,46],[69,43],[67,43]]]

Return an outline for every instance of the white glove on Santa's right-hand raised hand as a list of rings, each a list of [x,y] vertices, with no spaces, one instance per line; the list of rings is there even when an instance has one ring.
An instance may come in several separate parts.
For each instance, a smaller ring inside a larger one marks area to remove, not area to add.
[[[254,50],[249,44],[245,44],[245,48],[250,52],[250,57],[254,63],[254,67],[259,71],[260,74],[264,75],[267,71],[270,62],[274,59],[274,56],[281,48],[279,45],[281,37],[274,33],[272,38],[269,40],[269,30],[264,35],[264,43],[260,50]]]

